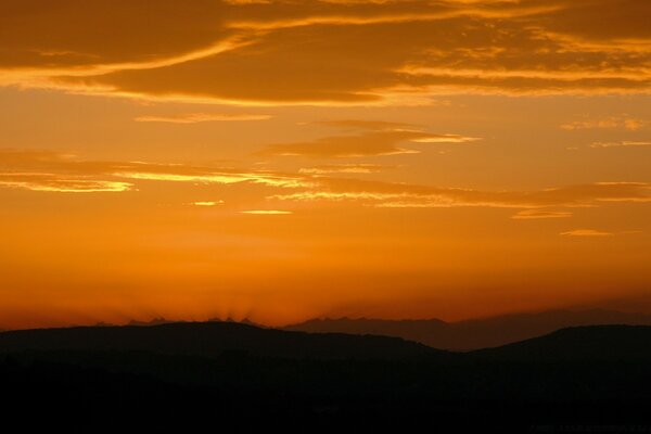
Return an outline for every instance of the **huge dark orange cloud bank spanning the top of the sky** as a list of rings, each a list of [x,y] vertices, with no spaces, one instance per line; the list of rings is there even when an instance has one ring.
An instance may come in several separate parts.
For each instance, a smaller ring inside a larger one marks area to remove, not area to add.
[[[651,91],[643,0],[5,0],[0,8],[0,82],[22,87],[234,104]]]

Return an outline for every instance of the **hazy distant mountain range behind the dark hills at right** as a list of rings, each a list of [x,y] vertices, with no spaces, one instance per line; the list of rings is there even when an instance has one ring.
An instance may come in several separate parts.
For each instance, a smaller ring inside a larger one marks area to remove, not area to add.
[[[420,342],[434,348],[471,350],[523,341],[567,327],[607,324],[651,326],[651,315],[590,309],[514,314],[458,322],[326,318],[282,329],[310,333],[379,334]]]

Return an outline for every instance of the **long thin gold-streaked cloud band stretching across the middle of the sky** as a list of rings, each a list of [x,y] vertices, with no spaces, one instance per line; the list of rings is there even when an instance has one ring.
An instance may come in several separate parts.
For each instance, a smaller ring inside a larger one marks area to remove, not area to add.
[[[596,182],[532,191],[485,191],[335,178],[311,173],[84,161],[47,151],[0,150],[0,187],[4,188],[99,193],[135,191],[142,182],[156,182],[161,184],[159,188],[167,182],[260,186],[267,189],[260,199],[276,205],[283,202],[349,202],[384,208],[494,207],[522,210],[514,218],[559,218],[569,214],[569,210],[558,208],[651,203],[651,184],[644,182]],[[207,206],[208,203],[202,201],[195,205]],[[549,208],[556,209],[551,212]]]

